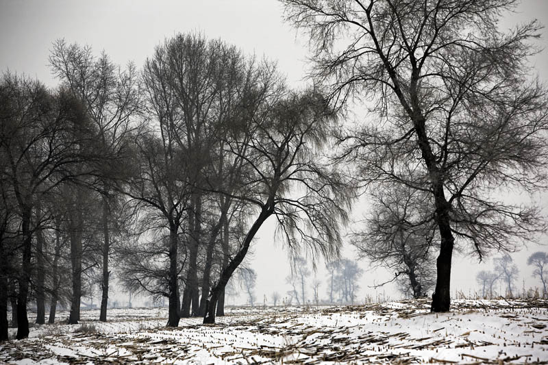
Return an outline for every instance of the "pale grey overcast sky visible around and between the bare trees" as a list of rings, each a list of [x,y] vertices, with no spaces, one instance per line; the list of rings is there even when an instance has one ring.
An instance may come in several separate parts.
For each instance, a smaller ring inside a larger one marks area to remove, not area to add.
[[[506,29],[516,23],[533,18],[548,25],[547,0],[523,0],[517,12],[506,16],[501,27]],[[209,38],[223,40],[240,47],[246,53],[265,55],[277,60],[279,69],[293,86],[303,84],[308,62],[308,41],[282,21],[281,5],[274,0],[208,0],[208,1],[45,1],[45,0],[0,0],[0,71],[36,77],[47,86],[55,87],[57,81],[51,77],[47,58],[51,43],[58,38],[67,42],[90,45],[96,53],[104,50],[114,62],[134,62],[142,66],[166,37],[179,32],[202,32]],[[545,50],[532,60],[540,79],[548,80],[548,32],[538,45]],[[544,196],[546,197],[546,195]],[[534,197],[540,205],[545,199]],[[358,205],[358,210],[360,206]],[[257,298],[269,298],[273,291],[285,295],[288,287],[284,278],[288,275],[288,260],[282,244],[274,240],[273,221],[266,223],[258,233],[254,244],[252,266],[258,273]],[[543,236],[541,241],[548,242]],[[526,265],[527,256],[548,247],[529,247],[513,255],[521,269],[525,286],[534,286],[532,269]],[[351,247],[345,255],[355,257]],[[453,256],[454,257],[454,256]],[[360,264],[366,271],[361,283],[360,301],[367,295],[397,297],[395,288],[373,290],[368,286],[379,283],[390,275],[386,270],[369,269],[369,263]],[[490,269],[491,262],[477,264],[471,257],[456,255],[453,259],[451,289],[468,294],[475,288],[477,270]],[[325,270],[319,264],[316,274],[323,281]],[[325,297],[325,284],[321,286],[321,297]],[[309,290],[311,292],[311,290]],[[311,296],[310,296],[311,297]]]

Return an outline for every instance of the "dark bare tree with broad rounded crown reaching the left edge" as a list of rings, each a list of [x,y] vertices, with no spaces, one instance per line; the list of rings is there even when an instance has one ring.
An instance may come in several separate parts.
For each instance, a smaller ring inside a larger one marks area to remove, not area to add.
[[[38,81],[5,74],[0,81],[1,104],[8,114],[1,123],[1,155],[8,168],[1,171],[16,201],[20,219],[21,271],[18,275],[17,338],[28,336],[27,299],[32,277],[32,236],[39,226],[32,220],[36,202],[64,181],[97,172],[101,153],[93,146],[96,131],[81,103],[60,90],[51,95]]]

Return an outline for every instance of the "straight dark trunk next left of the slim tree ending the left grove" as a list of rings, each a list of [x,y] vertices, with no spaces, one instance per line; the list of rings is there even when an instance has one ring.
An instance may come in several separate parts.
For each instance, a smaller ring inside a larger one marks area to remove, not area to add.
[[[71,219],[71,273],[73,294],[71,298],[71,313],[69,325],[75,325],[80,320],[80,301],[82,299],[82,210],[75,212],[75,221]]]

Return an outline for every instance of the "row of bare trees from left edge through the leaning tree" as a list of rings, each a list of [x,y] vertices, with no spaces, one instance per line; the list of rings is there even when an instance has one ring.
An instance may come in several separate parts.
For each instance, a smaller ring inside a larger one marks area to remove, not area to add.
[[[46,294],[50,322],[66,299],[77,323],[88,281],[106,320],[112,260],[127,289],[169,298],[169,326],[211,323],[270,216],[292,252],[338,253],[349,188],[318,158],[335,121],[318,90],[199,34],[166,40],[140,72],[63,40],[49,61],[58,90],[0,82],[0,273],[17,338],[30,297],[38,323]]]

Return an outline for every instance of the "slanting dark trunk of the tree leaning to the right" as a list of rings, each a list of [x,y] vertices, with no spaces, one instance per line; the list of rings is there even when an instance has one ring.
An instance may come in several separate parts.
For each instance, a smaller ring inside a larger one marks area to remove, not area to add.
[[[234,258],[230,260],[228,266],[221,272],[221,278],[219,279],[219,283],[217,283],[216,286],[212,289],[210,297],[206,302],[206,314],[203,316],[204,324],[215,323],[216,305],[217,301],[219,301],[219,294],[221,294],[222,290],[227,285],[227,282],[230,277],[232,277],[234,270],[236,270],[236,268],[238,268],[238,266],[244,260],[244,257],[247,254],[247,250],[249,249],[249,244],[251,244],[251,240],[253,240],[253,237],[255,237],[255,235],[257,234],[257,231],[261,227],[262,223],[264,223],[264,221],[266,221],[266,218],[269,218],[269,216],[271,216],[273,213],[274,204],[272,199],[269,199],[269,202],[262,207],[258,218],[247,232],[242,247],[240,247],[240,250],[238,251],[238,253],[236,253],[236,256],[234,256]]]

